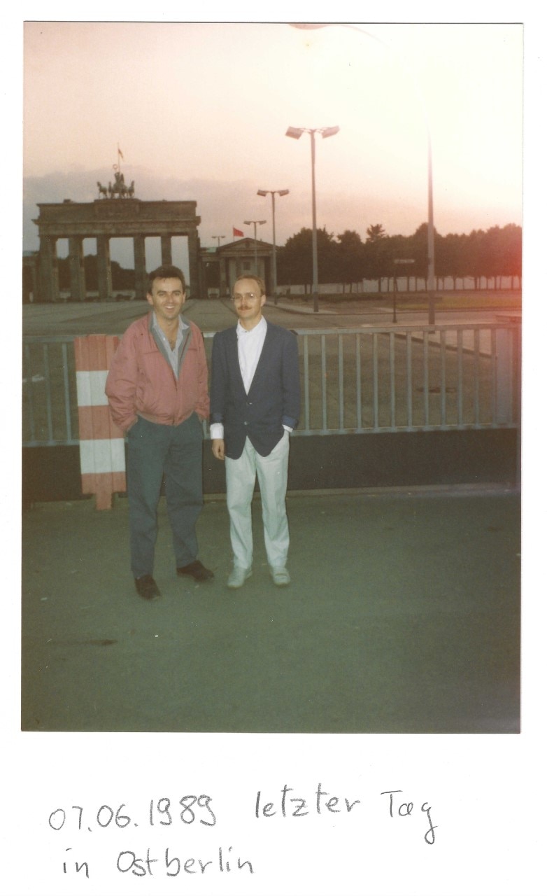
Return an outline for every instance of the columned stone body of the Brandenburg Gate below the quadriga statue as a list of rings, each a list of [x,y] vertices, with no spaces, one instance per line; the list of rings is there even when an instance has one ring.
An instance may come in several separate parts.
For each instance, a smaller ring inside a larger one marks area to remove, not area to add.
[[[99,192],[100,188],[99,188]],[[83,240],[94,237],[97,240],[98,298],[107,301],[112,298],[112,271],[110,265],[110,244],[113,237],[131,237],[133,241],[135,267],[135,298],[146,297],[146,258],[144,241],[146,237],[160,237],[161,263],[172,264],[172,237],[187,237],[190,282],[187,296],[199,297],[200,282],[200,237],[198,225],[201,219],[196,215],[196,202],[170,202],[167,200],[143,202],[126,194],[123,199],[110,198],[94,202],[39,202],[39,300],[59,301],[59,273],[56,242],[68,239],[70,259],[71,297],[73,301],[83,301],[86,297],[85,272],[83,264]]]

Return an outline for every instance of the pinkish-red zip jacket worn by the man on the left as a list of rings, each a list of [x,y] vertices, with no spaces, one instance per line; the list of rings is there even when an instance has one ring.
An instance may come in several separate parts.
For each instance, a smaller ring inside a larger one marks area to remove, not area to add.
[[[137,416],[152,423],[178,426],[193,411],[209,417],[207,359],[199,327],[183,318],[178,378],[151,330],[152,314],[132,323],[115,351],[107,375],[110,413],[116,426],[127,431]]]

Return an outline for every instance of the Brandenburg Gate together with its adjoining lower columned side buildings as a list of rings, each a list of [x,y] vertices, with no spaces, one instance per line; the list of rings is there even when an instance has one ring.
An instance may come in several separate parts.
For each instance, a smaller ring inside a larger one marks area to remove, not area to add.
[[[201,248],[196,202],[167,200],[143,202],[134,198],[134,184],[124,185],[116,171],[115,185],[98,184],[99,198],[94,202],[38,202],[39,251],[23,255],[23,301],[58,302],[59,267],[57,240],[68,240],[70,299],[84,301],[87,288],[83,241],[97,241],[98,298],[113,298],[110,239],[129,237],[133,243],[134,295],[146,297],[146,237],[160,237],[161,263],[173,263],[172,237],[186,237],[189,282],[187,295],[192,298],[229,296],[234,280],[242,274],[257,273],[271,294],[272,249],[270,243],[243,237],[226,246]]]

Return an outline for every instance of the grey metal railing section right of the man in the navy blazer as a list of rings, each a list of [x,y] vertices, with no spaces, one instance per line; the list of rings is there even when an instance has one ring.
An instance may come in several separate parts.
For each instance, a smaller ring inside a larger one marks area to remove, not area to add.
[[[303,410],[295,435],[518,426],[518,325],[296,332]]]

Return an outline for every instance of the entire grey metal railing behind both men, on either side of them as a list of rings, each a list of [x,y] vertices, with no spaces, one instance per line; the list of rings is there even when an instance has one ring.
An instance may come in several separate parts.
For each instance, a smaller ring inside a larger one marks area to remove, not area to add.
[[[303,399],[295,435],[519,426],[518,323],[295,333]],[[208,358],[213,335],[204,333]],[[22,406],[23,446],[79,443],[73,337],[23,340]]]

